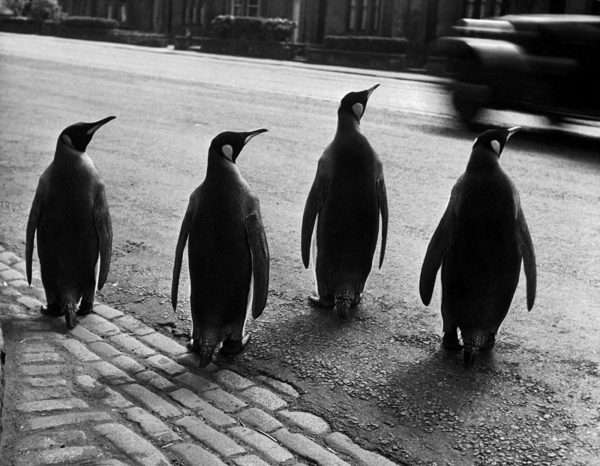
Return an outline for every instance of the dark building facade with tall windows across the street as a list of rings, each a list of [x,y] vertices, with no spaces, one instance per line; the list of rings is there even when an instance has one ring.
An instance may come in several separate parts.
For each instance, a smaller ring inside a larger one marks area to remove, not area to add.
[[[111,17],[140,31],[202,35],[220,14],[283,17],[298,25],[296,42],[380,35],[409,38],[423,50],[461,17],[598,14],[598,5],[600,0],[61,0],[71,16]]]

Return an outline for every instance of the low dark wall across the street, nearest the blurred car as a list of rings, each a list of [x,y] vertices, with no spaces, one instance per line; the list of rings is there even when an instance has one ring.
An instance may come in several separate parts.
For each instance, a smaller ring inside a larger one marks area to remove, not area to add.
[[[387,71],[405,71],[407,68],[406,55],[395,53],[353,52],[307,47],[306,57],[309,63],[320,65]]]

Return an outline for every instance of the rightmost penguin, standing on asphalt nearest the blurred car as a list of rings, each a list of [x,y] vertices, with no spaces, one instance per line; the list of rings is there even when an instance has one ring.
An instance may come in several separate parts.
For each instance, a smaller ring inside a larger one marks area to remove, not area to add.
[[[488,130],[476,137],[421,268],[419,293],[428,306],[442,266],[442,344],[460,350],[460,329],[466,367],[480,350],[494,347],[517,289],[521,260],[529,311],[535,300],[533,243],[517,188],[500,166],[506,141],[520,129]]]

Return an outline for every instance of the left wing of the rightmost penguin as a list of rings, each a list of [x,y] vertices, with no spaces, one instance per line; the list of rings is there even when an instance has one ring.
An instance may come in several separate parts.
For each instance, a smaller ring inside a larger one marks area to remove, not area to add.
[[[444,212],[442,220],[440,220],[440,223],[437,225],[436,231],[433,233],[429,245],[427,246],[427,252],[425,252],[425,259],[423,260],[423,266],[421,267],[419,294],[421,294],[421,300],[425,306],[428,306],[431,302],[433,287],[436,284],[437,270],[439,270],[442,265],[444,252],[452,241],[455,223],[453,195],[454,192],[451,194],[448,206],[446,207],[446,212]]]

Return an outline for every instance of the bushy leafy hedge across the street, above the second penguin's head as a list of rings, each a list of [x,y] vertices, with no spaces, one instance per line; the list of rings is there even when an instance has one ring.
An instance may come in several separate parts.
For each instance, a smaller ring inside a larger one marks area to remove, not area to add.
[[[285,42],[292,38],[296,24],[284,18],[221,15],[211,21],[211,36]]]

